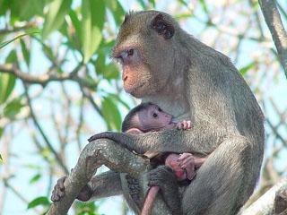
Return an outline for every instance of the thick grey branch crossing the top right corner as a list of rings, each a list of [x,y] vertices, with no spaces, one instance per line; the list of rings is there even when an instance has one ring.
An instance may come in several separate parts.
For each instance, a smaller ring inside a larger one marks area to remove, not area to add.
[[[259,0],[259,4],[287,77],[287,33],[284,30],[280,13],[274,0]]]

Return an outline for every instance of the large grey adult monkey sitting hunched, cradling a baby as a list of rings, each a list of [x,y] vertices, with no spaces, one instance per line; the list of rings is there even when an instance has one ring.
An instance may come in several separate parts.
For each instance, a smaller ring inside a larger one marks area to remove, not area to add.
[[[191,120],[193,129],[100,133],[92,139],[108,138],[138,153],[209,155],[183,193],[182,211],[236,214],[256,185],[265,132],[257,100],[230,59],[157,11],[126,15],[113,56],[123,66],[126,92],[158,105],[177,121]]]

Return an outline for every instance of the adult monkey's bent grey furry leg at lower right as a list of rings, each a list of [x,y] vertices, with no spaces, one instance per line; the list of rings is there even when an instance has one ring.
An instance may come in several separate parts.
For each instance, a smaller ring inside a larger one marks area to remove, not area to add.
[[[258,167],[260,156],[252,149],[242,136],[222,142],[187,187],[182,200],[184,214],[236,214],[253,192],[259,176],[259,168],[253,167]]]

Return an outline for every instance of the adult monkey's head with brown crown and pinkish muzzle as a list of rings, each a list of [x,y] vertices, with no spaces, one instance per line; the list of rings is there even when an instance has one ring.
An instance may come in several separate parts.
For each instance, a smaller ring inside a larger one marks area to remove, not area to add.
[[[170,16],[155,11],[126,15],[113,54],[123,67],[126,92],[136,98],[155,95],[174,71],[175,28]]]

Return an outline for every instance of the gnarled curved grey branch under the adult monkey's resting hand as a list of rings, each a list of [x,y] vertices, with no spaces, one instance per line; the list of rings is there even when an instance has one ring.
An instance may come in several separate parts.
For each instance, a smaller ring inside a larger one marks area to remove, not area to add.
[[[65,196],[60,202],[54,202],[51,205],[48,215],[66,214],[82,187],[90,181],[96,169],[103,164],[117,172],[128,173],[135,177],[140,176],[149,168],[149,162],[146,159],[126,150],[116,142],[106,139],[90,142],[81,152],[71,174],[65,179]],[[146,182],[143,186],[146,192]],[[153,212],[152,214],[170,214],[167,206],[160,199],[155,202]]]

